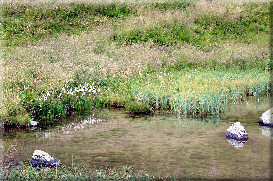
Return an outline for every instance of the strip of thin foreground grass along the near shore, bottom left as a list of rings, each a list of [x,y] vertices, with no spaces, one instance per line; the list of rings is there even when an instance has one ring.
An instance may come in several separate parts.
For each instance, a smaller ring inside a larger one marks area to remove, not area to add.
[[[76,167],[73,164],[72,168],[60,165],[57,168],[50,169],[46,173],[44,169],[34,174],[34,168],[30,167],[28,163],[24,163],[20,169],[14,167],[12,164],[6,166],[2,172],[2,180],[105,180],[105,181],[120,181],[120,180],[178,180],[178,177],[170,174],[166,176],[161,173],[151,173],[145,169],[136,171],[133,166],[127,167],[126,164],[120,168],[87,168],[87,166]]]

